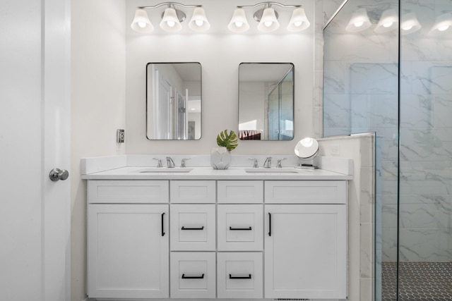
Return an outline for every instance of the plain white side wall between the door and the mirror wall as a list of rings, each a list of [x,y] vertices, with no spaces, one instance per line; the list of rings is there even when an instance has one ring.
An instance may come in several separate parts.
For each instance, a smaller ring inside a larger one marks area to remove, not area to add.
[[[71,300],[85,299],[86,187],[80,159],[123,154],[125,126],[124,0],[71,1]],[[144,66],[143,66],[144,70]],[[126,132],[127,133],[127,132]]]

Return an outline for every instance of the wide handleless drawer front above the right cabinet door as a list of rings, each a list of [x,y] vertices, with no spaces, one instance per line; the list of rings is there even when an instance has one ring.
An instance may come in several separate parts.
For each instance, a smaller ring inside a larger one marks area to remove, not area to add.
[[[347,181],[268,180],[265,183],[268,204],[346,204]]]

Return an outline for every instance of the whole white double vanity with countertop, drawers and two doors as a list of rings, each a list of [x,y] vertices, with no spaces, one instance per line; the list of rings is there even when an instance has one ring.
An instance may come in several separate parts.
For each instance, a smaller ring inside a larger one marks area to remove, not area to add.
[[[350,170],[102,160],[82,162],[88,297],[347,297]]]

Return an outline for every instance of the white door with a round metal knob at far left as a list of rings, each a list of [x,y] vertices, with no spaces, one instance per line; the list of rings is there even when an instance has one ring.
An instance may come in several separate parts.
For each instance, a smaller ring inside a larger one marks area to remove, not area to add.
[[[70,183],[49,179],[70,164],[69,9],[0,6],[1,300],[70,299]]]

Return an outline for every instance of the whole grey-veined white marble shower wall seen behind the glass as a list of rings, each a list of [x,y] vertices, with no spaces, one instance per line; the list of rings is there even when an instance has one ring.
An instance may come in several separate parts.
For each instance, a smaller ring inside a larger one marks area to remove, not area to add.
[[[422,2],[422,3],[421,3]],[[395,262],[398,226],[398,32],[349,33],[349,0],[324,35],[323,135],[376,132],[376,261]],[[428,35],[452,0],[401,1],[422,29],[401,37],[400,260],[452,260],[452,30]],[[381,8],[383,9],[383,8]]]

